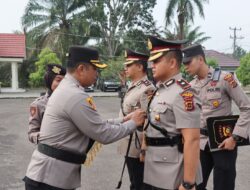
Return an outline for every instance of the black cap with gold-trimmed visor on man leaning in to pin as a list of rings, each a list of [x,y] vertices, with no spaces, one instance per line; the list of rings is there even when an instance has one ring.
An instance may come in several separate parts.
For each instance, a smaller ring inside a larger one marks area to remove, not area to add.
[[[82,46],[72,46],[69,48],[69,53],[67,56],[67,67],[69,68],[74,68],[80,62],[90,63],[100,69],[104,69],[107,67],[106,64],[100,63],[98,51],[95,49]]]

